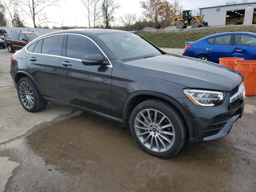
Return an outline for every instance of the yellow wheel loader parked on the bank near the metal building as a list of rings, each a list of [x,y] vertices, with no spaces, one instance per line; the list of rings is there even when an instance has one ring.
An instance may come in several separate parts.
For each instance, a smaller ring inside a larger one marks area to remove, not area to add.
[[[204,15],[193,16],[192,10],[183,11],[182,15],[176,16],[172,19],[172,24],[176,25],[178,29],[187,28],[191,26],[192,28],[198,28],[202,26],[207,26],[203,21]]]

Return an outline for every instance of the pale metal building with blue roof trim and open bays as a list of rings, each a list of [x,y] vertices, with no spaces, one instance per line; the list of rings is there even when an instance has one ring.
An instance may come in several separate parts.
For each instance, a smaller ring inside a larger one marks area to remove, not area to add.
[[[208,26],[256,24],[256,2],[200,8]]]

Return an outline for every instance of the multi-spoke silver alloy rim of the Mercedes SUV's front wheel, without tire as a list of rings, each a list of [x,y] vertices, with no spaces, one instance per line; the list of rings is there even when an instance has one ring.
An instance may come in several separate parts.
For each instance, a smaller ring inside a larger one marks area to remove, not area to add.
[[[165,152],[174,144],[172,122],[158,110],[142,110],[136,116],[134,126],[140,142],[154,152]]]

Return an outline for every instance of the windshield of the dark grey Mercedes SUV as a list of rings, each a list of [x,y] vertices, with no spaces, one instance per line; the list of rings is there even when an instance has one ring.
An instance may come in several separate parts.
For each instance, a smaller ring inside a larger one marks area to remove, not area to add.
[[[154,46],[133,33],[104,33],[98,37],[124,62],[161,55]]]

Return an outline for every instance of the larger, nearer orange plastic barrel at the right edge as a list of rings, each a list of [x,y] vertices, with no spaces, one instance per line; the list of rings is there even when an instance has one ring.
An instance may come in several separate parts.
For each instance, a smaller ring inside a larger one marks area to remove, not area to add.
[[[235,70],[244,76],[246,96],[256,95],[256,60],[235,61]]]

